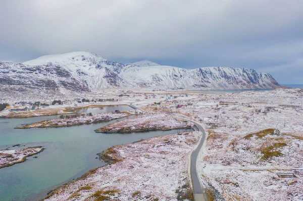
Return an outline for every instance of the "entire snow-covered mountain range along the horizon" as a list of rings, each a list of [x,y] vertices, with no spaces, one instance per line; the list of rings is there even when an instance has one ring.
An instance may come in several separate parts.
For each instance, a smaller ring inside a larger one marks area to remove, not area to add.
[[[104,88],[273,89],[274,78],[251,69],[182,69],[152,61],[122,64],[89,52],[45,55],[24,63],[0,62],[0,85],[71,91]]]

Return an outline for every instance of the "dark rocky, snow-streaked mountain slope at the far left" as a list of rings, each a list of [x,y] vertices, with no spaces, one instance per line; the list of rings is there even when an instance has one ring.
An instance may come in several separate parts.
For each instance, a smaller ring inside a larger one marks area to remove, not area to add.
[[[0,61],[0,85],[58,91],[89,91],[85,81],[78,81],[60,66],[36,65]]]

